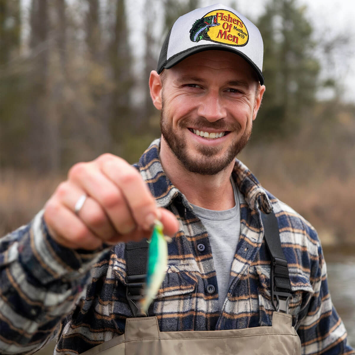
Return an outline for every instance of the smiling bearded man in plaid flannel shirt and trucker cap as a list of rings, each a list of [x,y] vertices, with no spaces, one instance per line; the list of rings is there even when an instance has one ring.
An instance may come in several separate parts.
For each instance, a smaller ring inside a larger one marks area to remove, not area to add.
[[[33,353],[51,334],[58,354],[354,354],[316,231],[235,159],[265,91],[262,53],[258,29],[224,5],[175,22],[149,79],[161,140],[134,167],[110,154],[74,165],[2,240],[4,354]],[[279,281],[261,221],[271,213]],[[140,255],[132,264],[128,249],[141,244],[125,242],[148,238],[156,219],[173,237],[168,270],[151,317],[132,318]]]

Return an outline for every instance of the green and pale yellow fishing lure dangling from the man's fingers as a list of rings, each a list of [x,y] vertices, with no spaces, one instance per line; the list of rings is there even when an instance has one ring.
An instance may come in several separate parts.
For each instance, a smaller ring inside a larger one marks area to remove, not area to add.
[[[162,223],[158,220],[154,223],[153,233],[148,241],[147,279],[143,299],[140,301],[140,309],[144,313],[147,313],[165,278],[168,267],[168,241],[171,241],[169,237],[164,236]]]

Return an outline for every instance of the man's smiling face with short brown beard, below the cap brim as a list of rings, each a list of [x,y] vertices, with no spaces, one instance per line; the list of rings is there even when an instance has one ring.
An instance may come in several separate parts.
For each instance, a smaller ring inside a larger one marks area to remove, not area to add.
[[[197,53],[165,70],[160,126],[187,170],[214,175],[233,162],[250,138],[259,86],[249,64],[226,51]]]

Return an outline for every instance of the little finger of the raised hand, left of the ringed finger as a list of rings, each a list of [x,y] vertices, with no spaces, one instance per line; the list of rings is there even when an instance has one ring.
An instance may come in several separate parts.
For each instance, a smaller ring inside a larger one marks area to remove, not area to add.
[[[54,199],[47,202],[44,220],[59,244],[72,249],[95,250],[102,240],[95,236],[77,216]]]

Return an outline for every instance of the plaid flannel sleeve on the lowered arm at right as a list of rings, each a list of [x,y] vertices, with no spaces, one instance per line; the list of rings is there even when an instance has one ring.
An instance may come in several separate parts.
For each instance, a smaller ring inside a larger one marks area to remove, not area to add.
[[[315,230],[310,234],[314,234],[313,240],[318,240]],[[314,293],[310,297],[306,315],[297,331],[301,339],[302,354],[355,354],[347,342],[344,323],[332,304],[328,289],[326,262],[319,240],[318,255],[318,260],[312,263],[310,280]]]

